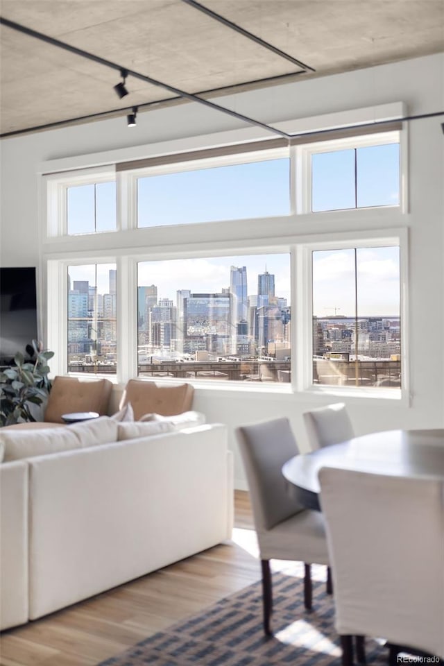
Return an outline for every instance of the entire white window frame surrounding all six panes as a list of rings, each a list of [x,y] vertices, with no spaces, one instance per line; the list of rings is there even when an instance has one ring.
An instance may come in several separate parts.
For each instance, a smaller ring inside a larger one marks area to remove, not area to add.
[[[257,132],[257,130],[254,130]],[[178,142],[137,146],[109,153],[85,155],[64,160],[48,162],[40,167],[42,178],[42,262],[47,265],[48,289],[47,326],[49,348],[57,351],[51,370],[56,374],[67,372],[67,266],[74,264],[117,264],[117,376],[106,375],[108,379],[125,384],[131,377],[137,377],[137,262],[155,261],[156,259],[177,259],[192,257],[210,257],[223,255],[247,255],[266,253],[290,253],[291,255],[291,384],[242,384],[241,382],[205,382],[192,380],[195,386],[208,391],[247,391],[264,399],[270,393],[280,393],[289,400],[303,402],[314,395],[347,395],[348,398],[372,398],[382,400],[397,399],[397,404],[409,401],[409,358],[408,312],[407,312],[407,277],[408,247],[407,229],[402,213],[407,212],[407,128],[395,134],[400,137],[400,206],[375,207],[332,212],[312,213],[307,210],[307,189],[303,169],[308,156],[314,151],[325,151],[325,144],[332,150],[340,150],[345,143],[353,147],[361,145],[393,142],[393,133],[379,133],[351,139],[334,139],[332,142],[304,144],[291,148],[255,153],[239,153],[225,157],[210,157],[196,162],[176,162],[162,167],[148,167],[134,171],[115,173],[111,160],[135,159],[136,157],[155,156],[175,152],[177,146],[185,150],[211,148],[226,142],[233,142],[236,137],[253,137],[253,130],[192,137]],[[361,142],[362,139],[362,142]],[[334,145],[333,145],[334,144]],[[350,146],[347,146],[350,147]],[[131,157],[133,151],[134,157]],[[137,178],[149,173],[177,173],[219,167],[228,164],[242,164],[253,161],[272,160],[290,157],[290,196],[291,214],[285,217],[264,218],[241,221],[218,221],[210,223],[180,224],[172,227],[157,226],[137,228],[137,202],[135,188]],[[309,158],[311,159],[311,157]],[[80,164],[103,164],[99,167],[79,169]],[[55,173],[64,169],[62,173]],[[76,171],[74,171],[76,169]],[[44,175],[44,174],[47,175]],[[311,171],[305,176],[311,178]],[[101,178],[102,180],[98,180]],[[78,180],[80,178],[80,180]],[[91,234],[66,234],[66,196],[64,191],[71,185],[105,182],[115,178],[117,182],[117,225],[114,232],[95,232]],[[311,185],[309,187],[311,191]],[[309,207],[311,208],[311,202]],[[60,214],[61,213],[61,214]],[[61,218],[61,219],[60,219]],[[336,224],[340,221],[340,224]],[[273,231],[271,226],[273,225]],[[217,226],[219,225],[219,227]],[[341,233],[330,232],[331,227],[341,229]],[[211,228],[211,229],[210,229]],[[228,239],[228,240],[227,240]],[[400,246],[401,255],[401,327],[402,327],[402,389],[314,386],[311,384],[312,372],[312,334],[311,334],[311,249],[334,249],[337,242],[341,247],[348,242],[350,246],[360,246],[365,239],[368,246],[381,246],[395,242]],[[305,321],[305,325],[304,325]],[[302,364],[302,365],[301,365]],[[85,375],[83,375],[85,376]],[[97,375],[94,375],[96,377]],[[92,375],[93,377],[93,375]],[[168,382],[168,379],[159,379]],[[171,380],[177,382],[177,380]]]

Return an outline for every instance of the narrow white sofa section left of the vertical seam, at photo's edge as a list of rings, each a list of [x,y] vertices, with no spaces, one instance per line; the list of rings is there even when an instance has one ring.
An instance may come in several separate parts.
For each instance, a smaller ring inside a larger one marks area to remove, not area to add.
[[[28,622],[28,463],[0,465],[0,629]]]

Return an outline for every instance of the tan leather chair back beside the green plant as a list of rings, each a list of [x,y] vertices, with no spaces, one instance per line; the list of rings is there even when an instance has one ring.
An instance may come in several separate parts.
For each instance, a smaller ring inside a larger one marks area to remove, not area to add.
[[[44,420],[62,423],[62,414],[76,411],[108,412],[112,384],[108,379],[77,379],[54,377]]]

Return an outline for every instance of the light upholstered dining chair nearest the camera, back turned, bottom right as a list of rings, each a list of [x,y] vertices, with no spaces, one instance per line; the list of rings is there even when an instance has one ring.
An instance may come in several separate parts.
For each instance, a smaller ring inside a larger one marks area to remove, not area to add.
[[[444,658],[444,480],[322,468],[343,666],[352,635]]]

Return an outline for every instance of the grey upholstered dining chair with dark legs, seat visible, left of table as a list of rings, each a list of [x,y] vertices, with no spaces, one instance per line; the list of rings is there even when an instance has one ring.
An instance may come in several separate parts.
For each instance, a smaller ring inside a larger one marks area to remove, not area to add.
[[[298,454],[288,418],[237,428],[250,490],[262,565],[264,632],[271,635],[273,592],[270,560],[305,563],[304,604],[311,609],[311,563],[328,565],[323,515],[293,499],[282,476],[284,463]],[[330,571],[327,574],[330,591]]]

